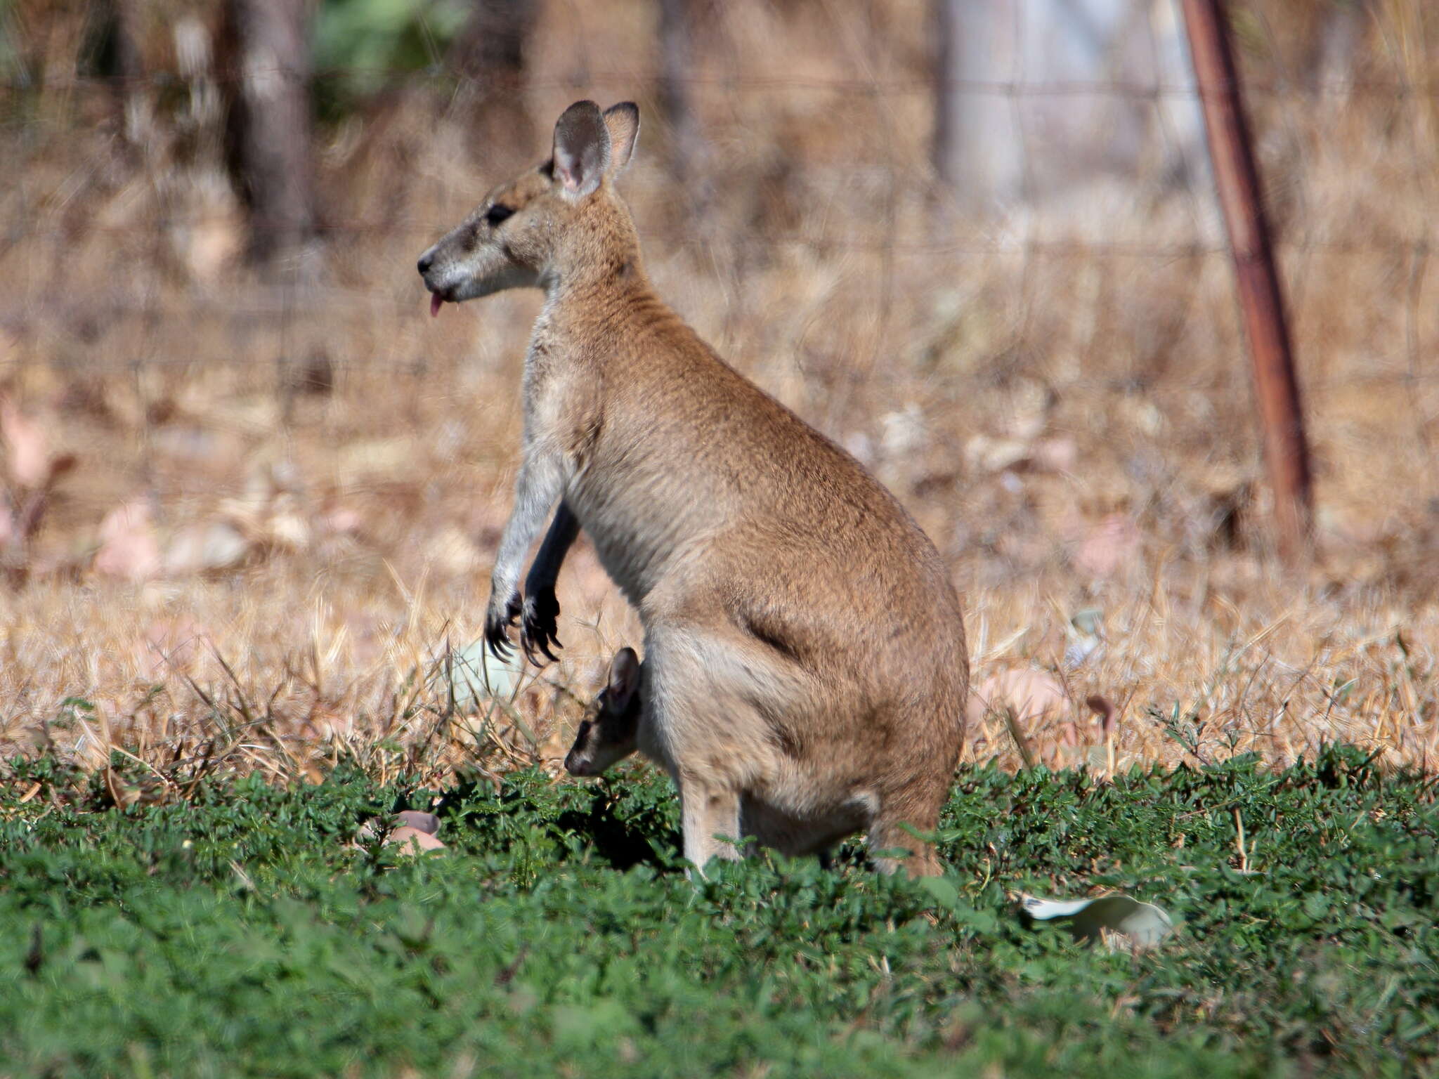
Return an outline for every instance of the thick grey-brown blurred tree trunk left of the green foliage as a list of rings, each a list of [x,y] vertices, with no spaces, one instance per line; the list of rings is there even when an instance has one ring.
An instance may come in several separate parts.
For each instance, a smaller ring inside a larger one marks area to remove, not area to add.
[[[224,0],[226,155],[249,209],[250,256],[296,253],[315,235],[307,0]]]

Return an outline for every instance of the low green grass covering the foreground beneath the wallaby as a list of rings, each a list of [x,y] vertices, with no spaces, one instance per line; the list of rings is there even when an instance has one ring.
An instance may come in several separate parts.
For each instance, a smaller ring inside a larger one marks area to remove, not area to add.
[[[118,758],[117,758],[118,764]],[[0,1075],[1238,1076],[1439,1063],[1433,788],[1327,751],[1114,784],[960,777],[934,888],[754,859],[691,885],[635,768],[443,793],[443,856],[345,850],[429,804],[341,770],[127,811],[14,762]],[[42,791],[19,804],[35,781]],[[1248,862],[1236,870],[1235,813]],[[1183,843],[1180,844],[1180,840]],[[1108,886],[1143,955],[1014,916]]]

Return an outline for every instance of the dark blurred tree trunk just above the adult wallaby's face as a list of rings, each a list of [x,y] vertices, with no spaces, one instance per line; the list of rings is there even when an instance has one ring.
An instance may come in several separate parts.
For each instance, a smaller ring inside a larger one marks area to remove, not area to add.
[[[476,160],[528,160],[535,132],[525,106],[525,53],[538,19],[538,0],[473,0],[455,39],[450,62],[465,79]]]

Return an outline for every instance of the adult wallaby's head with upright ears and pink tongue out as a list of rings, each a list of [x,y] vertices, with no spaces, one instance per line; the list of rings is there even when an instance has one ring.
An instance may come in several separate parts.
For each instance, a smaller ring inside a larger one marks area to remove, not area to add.
[[[607,262],[622,269],[639,240],[610,181],[635,152],[639,109],[577,101],[554,125],[550,160],[499,184],[420,256],[430,314],[449,301],[512,288],[550,288]]]

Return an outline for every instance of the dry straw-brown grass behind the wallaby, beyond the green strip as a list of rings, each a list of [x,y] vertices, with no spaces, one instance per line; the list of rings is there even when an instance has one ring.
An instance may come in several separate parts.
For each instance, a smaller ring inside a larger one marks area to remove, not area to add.
[[[1435,102],[1255,101],[1318,468],[1318,557],[1285,575],[1206,199],[1143,188],[1140,206],[1105,183],[1062,211],[960,216],[925,164],[922,6],[873,7],[878,24],[725,6],[724,47],[695,72],[704,203],[673,190],[643,92],[625,190],[675,306],[934,537],[967,597],[976,682],[1062,685],[1048,715],[979,716],[967,758],[1019,764],[1017,729],[1038,760],[1104,770],[1286,762],[1321,741],[1433,767],[1439,269],[1416,245],[1435,240]],[[1366,76],[1432,78],[1439,27],[1419,1],[1377,10]],[[652,85],[633,9],[584,19],[547,16],[538,118]],[[1288,59],[1248,62],[1269,85]],[[307,289],[230,259],[239,217],[203,141],[125,150],[102,89],[0,132],[4,393],[78,460],[0,593],[6,751],[96,767],[118,748],[171,791],[197,768],[302,777],[340,754],[436,777],[553,764],[577,698],[637,642],[581,550],[560,583],[561,665],[478,716],[449,701],[446,645],[478,636],[508,511],[538,301],[423,317],[413,259],[489,173],[426,91],[325,135],[334,229]],[[332,387],[295,391],[317,354]],[[161,554],[230,522],[245,564],[98,573],[101,522],[134,499]],[[1102,639],[1082,662],[1076,619]]]

